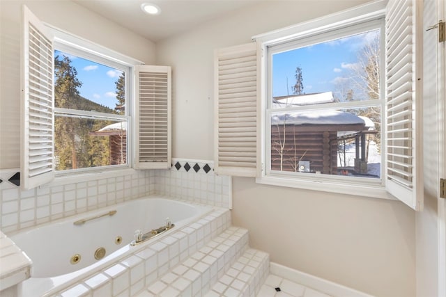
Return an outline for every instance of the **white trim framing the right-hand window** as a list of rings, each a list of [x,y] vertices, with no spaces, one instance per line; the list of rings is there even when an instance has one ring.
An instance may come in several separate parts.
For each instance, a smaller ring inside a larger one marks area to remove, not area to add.
[[[302,24],[297,24],[295,26],[289,26],[284,29],[279,29],[276,31],[272,31],[270,33],[265,33],[261,35],[256,35],[253,37],[259,47],[261,47],[261,52],[263,56],[261,57],[261,77],[263,77],[263,81],[266,81],[266,77],[268,77],[268,65],[266,65],[266,56],[267,56],[267,47],[271,45],[281,45],[285,42],[293,42],[296,39],[304,39],[309,38],[312,35],[317,33],[326,33],[328,31],[336,31],[337,29],[341,29],[341,31],[348,31],[348,26],[360,26],[360,24],[365,22],[371,22],[376,19],[383,19],[385,17],[385,6],[386,1],[375,1],[372,3],[368,3],[364,6],[359,6],[357,8],[352,8],[350,10],[344,10],[341,13],[335,13],[332,15],[328,15],[325,17],[320,17],[318,19],[314,19],[310,22],[305,22]],[[381,40],[382,42],[382,52],[384,53],[384,26],[381,26]],[[344,33],[345,35],[346,33]],[[312,39],[314,42],[316,38]],[[383,68],[383,67],[381,67]],[[381,69],[381,77],[384,77],[383,69]],[[261,100],[263,106],[261,108],[261,127],[263,130],[267,130],[268,127],[266,125],[266,121],[268,121],[267,117],[267,109],[266,104],[268,98],[268,86],[264,83],[261,88]],[[384,94],[383,84],[381,86],[381,94]],[[383,95],[382,95],[383,96]],[[381,99],[381,102],[384,102]],[[350,105],[350,104],[346,104]],[[382,108],[382,113],[384,113],[383,103],[380,104]],[[341,106],[341,104],[336,104],[337,108]],[[333,107],[333,106],[323,106],[324,109]],[[318,106],[309,106],[307,109],[317,109]],[[304,110],[306,107],[300,110]],[[287,109],[288,110],[288,109]],[[384,131],[384,125],[382,125],[382,135]],[[262,175],[256,178],[256,183],[258,184],[268,184],[272,186],[286,186],[291,188],[303,188],[307,190],[316,190],[316,191],[324,191],[329,193],[340,193],[340,194],[355,194],[370,197],[370,198],[384,198],[390,200],[397,200],[393,195],[388,193],[385,188],[385,145],[383,145],[383,157],[381,161],[381,176],[380,179],[371,179],[371,178],[361,178],[361,177],[349,177],[342,178],[331,175],[323,175],[323,178],[316,176],[308,176],[305,173],[295,173],[289,172],[281,172],[280,175],[274,175],[274,173],[268,172],[264,168],[263,164],[266,164],[266,151],[268,150],[268,144],[266,142],[266,138],[268,138],[268,131],[262,133]],[[269,152],[269,151],[268,151]],[[296,176],[298,175],[298,176]]]

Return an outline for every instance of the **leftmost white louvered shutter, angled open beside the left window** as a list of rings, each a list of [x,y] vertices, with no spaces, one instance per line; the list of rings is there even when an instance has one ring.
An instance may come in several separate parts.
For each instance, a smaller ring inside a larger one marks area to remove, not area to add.
[[[53,36],[23,6],[22,31],[22,188],[54,178]]]

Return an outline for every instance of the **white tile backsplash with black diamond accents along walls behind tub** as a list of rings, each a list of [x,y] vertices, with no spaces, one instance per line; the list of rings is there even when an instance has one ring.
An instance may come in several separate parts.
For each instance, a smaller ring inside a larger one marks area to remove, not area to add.
[[[89,181],[54,182],[30,191],[8,182],[16,172],[0,170],[0,230],[6,234],[152,194],[231,208],[231,177],[215,175],[212,161],[173,159],[169,170],[91,175]]]

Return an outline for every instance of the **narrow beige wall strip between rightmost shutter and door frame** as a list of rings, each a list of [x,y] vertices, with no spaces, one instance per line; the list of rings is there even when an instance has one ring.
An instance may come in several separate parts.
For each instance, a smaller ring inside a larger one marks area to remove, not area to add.
[[[435,24],[437,19],[436,0],[424,0],[424,27]],[[444,109],[444,103],[438,104],[437,73],[438,60],[436,51],[436,33],[424,33],[423,63],[424,63],[424,211],[415,216],[416,228],[416,266],[417,266],[417,296],[440,296],[438,291],[438,181],[439,162],[438,148],[439,122],[438,113]],[[444,47],[444,45],[443,45]],[[444,112],[444,111],[443,111]],[[444,154],[444,147],[443,147]],[[443,234],[445,236],[445,234]],[[443,251],[445,252],[445,251]],[[443,280],[444,281],[444,280]]]

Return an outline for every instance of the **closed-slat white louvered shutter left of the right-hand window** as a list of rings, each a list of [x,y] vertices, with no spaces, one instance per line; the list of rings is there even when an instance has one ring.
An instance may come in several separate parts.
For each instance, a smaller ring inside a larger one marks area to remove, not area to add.
[[[259,176],[259,58],[255,42],[215,51],[217,174]]]

